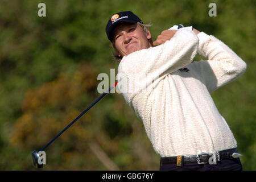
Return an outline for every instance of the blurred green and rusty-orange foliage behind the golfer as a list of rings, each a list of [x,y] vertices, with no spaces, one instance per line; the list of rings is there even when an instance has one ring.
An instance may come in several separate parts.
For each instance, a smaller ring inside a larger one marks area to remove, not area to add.
[[[46,3],[46,17],[38,4]],[[208,15],[209,3],[217,16]],[[117,70],[105,34],[110,16],[131,10],[153,23],[153,39],[174,24],[226,43],[247,64],[245,74],[212,97],[243,154],[256,169],[255,1],[0,1],[0,169],[31,170],[31,152],[100,94],[97,75]],[[195,60],[202,57],[196,56]],[[46,150],[43,170],[158,170],[141,121],[121,94],[109,94]]]

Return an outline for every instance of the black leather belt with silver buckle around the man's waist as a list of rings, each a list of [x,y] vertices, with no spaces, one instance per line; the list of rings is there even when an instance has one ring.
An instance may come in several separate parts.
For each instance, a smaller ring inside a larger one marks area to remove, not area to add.
[[[164,158],[161,158],[160,165],[177,164],[177,166],[182,166],[182,164],[195,163],[195,162],[197,162],[197,164],[207,164],[211,157],[212,159],[215,158],[216,161],[221,161],[223,159],[233,159],[232,154],[234,152],[237,152],[237,148],[217,151],[210,154],[201,153],[198,155],[190,155],[190,156],[182,155],[182,156],[164,157]]]

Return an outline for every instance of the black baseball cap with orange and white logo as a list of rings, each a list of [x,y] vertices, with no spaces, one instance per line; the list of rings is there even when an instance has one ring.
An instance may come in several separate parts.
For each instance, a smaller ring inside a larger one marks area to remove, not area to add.
[[[115,26],[117,26],[120,22],[128,22],[128,23],[143,23],[138,16],[136,16],[131,11],[121,11],[119,13],[115,13],[109,19],[108,24],[106,25],[106,34],[108,35],[109,40],[111,41],[111,32]]]

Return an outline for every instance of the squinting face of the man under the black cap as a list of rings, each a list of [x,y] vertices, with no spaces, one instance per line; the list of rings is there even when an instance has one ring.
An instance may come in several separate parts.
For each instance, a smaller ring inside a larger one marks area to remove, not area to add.
[[[115,49],[120,56],[127,56],[132,52],[152,47],[148,42],[150,32],[144,32],[138,23],[120,23],[113,30]]]

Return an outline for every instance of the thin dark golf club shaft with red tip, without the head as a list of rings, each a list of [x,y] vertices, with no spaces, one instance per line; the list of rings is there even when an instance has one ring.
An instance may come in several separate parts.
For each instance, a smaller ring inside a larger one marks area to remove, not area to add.
[[[49,146],[49,144],[51,144],[55,139],[60,137],[60,135],[63,134],[64,131],[66,131],[71,125],[73,125],[73,123],[77,121],[77,119],[81,118],[81,116],[84,115],[90,108],[92,108],[92,106],[94,106],[98,101],[100,101],[104,96],[106,96],[106,94],[108,94],[110,90],[112,90],[116,85],[117,85],[117,82],[115,82],[115,84],[109,88],[108,92],[104,92],[100,97],[97,98],[96,101],[94,101],[89,107],[87,107],[84,111],[82,111],[82,113],[76,119],[74,119],[71,123],[69,123],[67,127],[65,127],[62,131],[60,131],[59,134],[56,135],[56,137],[54,137],[49,143],[47,143],[46,146],[44,146],[41,149],[41,151],[44,151]]]

